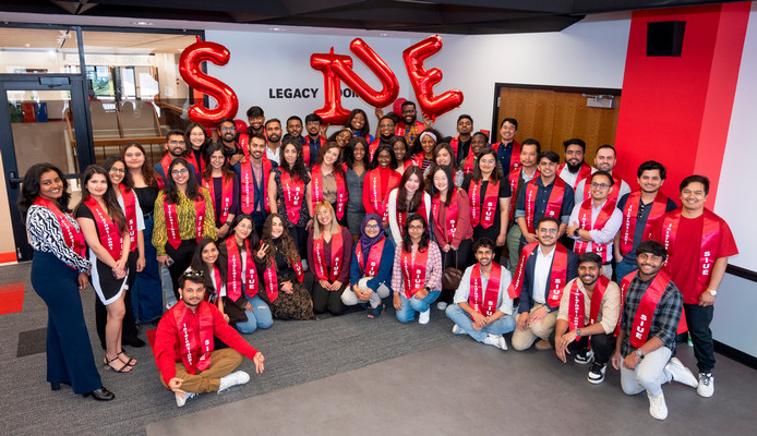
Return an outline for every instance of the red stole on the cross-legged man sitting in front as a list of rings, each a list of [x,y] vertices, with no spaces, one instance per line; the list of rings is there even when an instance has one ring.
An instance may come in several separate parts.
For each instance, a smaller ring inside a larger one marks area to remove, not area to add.
[[[211,353],[213,344],[213,312],[211,303],[201,302],[193,313],[184,305],[184,301],[177,303],[171,312],[179,332],[179,350],[187,372],[197,374],[211,366]],[[197,318],[195,327],[194,317]]]

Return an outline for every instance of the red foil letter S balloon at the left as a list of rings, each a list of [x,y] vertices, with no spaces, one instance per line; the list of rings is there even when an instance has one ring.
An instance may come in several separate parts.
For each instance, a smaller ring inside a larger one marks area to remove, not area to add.
[[[197,37],[197,41],[187,47],[179,58],[179,73],[191,87],[207,94],[218,101],[218,106],[208,109],[201,105],[192,105],[189,108],[190,119],[203,125],[218,124],[224,118],[233,118],[239,109],[237,94],[224,82],[212,77],[200,70],[200,64],[211,61],[216,65],[226,65],[231,53],[229,50],[216,43],[203,41]]]

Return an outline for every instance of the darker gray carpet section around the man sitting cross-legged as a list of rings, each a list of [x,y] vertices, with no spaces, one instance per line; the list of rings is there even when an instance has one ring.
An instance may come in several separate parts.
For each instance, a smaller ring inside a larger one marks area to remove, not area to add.
[[[205,395],[202,401],[189,402],[178,409],[173,393],[158,380],[149,348],[127,348],[130,356],[137,359],[139,363],[130,374],[100,371],[103,383],[117,398],[99,403],[74,396],[68,386],[58,392],[50,391],[45,382],[45,354],[16,358],[19,332],[39,329],[47,322],[45,304],[28,282],[29,269],[29,264],[0,267],[0,282],[27,282],[24,312],[0,316],[0,374],[5,380],[0,392],[3,435],[144,434],[145,426],[153,422],[464,340],[449,332],[450,322],[435,308],[426,326],[398,323],[394,308],[373,320],[368,319],[364,312],[340,317],[323,316],[315,322],[276,320],[269,330],[245,336],[265,354],[266,372],[253,376],[252,382],[243,387],[223,395]],[[82,298],[95,359],[99,361],[104,352],[94,330],[95,294],[87,289]],[[141,337],[146,340],[144,334]],[[241,370],[252,374],[254,365],[245,360]]]

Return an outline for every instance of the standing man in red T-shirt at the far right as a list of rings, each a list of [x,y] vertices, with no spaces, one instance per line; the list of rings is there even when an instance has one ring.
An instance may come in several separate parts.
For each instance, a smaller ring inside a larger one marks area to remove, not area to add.
[[[664,271],[684,295],[686,325],[699,368],[697,393],[712,397],[714,352],[710,323],[714,298],[725,275],[728,258],[738,254],[738,249],[728,223],[705,207],[710,193],[708,178],[689,175],[681,182],[678,192],[682,207],[657,222],[652,239],[668,250]]]

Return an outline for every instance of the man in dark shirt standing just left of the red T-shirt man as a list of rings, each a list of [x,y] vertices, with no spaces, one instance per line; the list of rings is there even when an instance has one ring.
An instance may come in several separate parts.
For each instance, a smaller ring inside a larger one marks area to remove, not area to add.
[[[617,208],[623,211],[623,223],[615,235],[613,250],[618,282],[636,269],[636,246],[651,237],[654,225],[664,214],[677,207],[660,191],[665,175],[662,164],[647,160],[636,171],[639,190],[617,202]]]

